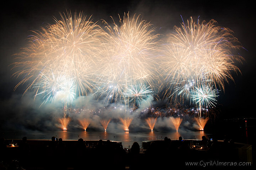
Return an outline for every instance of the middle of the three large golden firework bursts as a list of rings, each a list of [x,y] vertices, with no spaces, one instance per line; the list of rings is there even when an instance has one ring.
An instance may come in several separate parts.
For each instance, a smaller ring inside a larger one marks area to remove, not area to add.
[[[113,19],[113,18],[112,18]],[[154,34],[152,24],[140,19],[140,16],[123,19],[121,26],[114,22],[105,27],[110,35],[106,55],[102,59],[103,67],[98,75],[97,89],[107,101],[123,101],[123,92],[129,85],[153,85],[156,76],[156,56],[159,35]],[[111,88],[117,87],[117,89]],[[151,86],[153,87],[153,86]]]

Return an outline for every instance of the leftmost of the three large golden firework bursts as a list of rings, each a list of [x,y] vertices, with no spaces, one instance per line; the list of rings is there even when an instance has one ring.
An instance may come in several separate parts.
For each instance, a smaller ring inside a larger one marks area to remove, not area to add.
[[[55,18],[55,24],[48,24],[41,32],[32,33],[28,47],[17,54],[20,61],[13,63],[14,68],[21,68],[14,76],[25,75],[15,89],[28,82],[26,93],[42,75],[59,72],[75,79],[78,95],[92,92],[95,63],[107,35],[100,26],[81,13],[74,18],[68,13],[61,15],[60,21]]]

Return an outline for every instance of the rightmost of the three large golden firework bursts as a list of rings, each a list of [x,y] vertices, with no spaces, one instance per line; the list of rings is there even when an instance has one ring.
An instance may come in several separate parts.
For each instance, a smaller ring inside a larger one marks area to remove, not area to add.
[[[233,32],[217,26],[214,20],[200,24],[193,22],[192,17],[187,25],[182,23],[181,28],[175,26],[174,30],[174,34],[167,35],[161,64],[165,75],[164,96],[170,97],[174,94],[173,86],[184,87],[188,79],[195,80],[195,86],[201,85],[203,79],[212,80],[216,88],[224,91],[224,83],[233,80],[231,72],[240,72],[235,62],[244,60],[233,54],[242,47]]]

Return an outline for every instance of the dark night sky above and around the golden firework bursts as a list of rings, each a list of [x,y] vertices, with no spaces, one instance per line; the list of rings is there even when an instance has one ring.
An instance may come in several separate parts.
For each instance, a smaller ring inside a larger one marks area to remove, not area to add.
[[[242,46],[247,50],[239,53],[245,58],[242,64],[236,64],[241,74],[233,74],[235,82],[229,81],[225,85],[225,93],[221,92],[218,103],[221,105],[222,118],[255,117],[255,13],[254,7],[249,2],[234,1],[5,1],[1,3],[1,122],[6,122],[9,117],[6,112],[18,105],[26,103],[19,102],[21,94],[25,89],[19,87],[13,91],[19,79],[11,78],[14,73],[9,66],[13,60],[13,54],[20,52],[20,48],[27,43],[30,30],[39,30],[46,23],[53,24],[53,17],[60,19],[59,12],[71,11],[71,13],[82,11],[84,15],[91,16],[92,21],[100,19],[111,21],[110,16],[117,19],[124,12],[141,14],[142,18],[150,21],[156,28],[164,32],[171,32],[173,27],[180,26],[182,18],[190,19],[190,16],[199,21],[215,19],[219,26],[228,27],[234,31]],[[182,16],[182,18],[181,18]],[[116,20],[117,21],[117,20]],[[16,100],[16,102],[13,102]],[[9,103],[9,104],[8,104]],[[31,103],[30,103],[31,104]],[[36,111],[31,111],[36,112]],[[11,113],[11,112],[10,112]],[[15,114],[19,114],[19,111]],[[9,115],[10,116],[10,115]],[[18,117],[17,117],[18,118]],[[5,119],[5,120],[3,120]],[[3,128],[3,127],[2,127]]]

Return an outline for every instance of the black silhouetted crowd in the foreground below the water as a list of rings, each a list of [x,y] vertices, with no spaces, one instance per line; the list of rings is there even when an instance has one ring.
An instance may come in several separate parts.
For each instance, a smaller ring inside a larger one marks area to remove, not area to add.
[[[237,146],[233,140],[223,142],[164,140],[151,141],[146,148],[140,148],[138,142],[132,147],[123,148],[121,143],[103,141],[63,141],[52,137],[49,141],[35,144],[23,137],[18,147],[6,147],[4,138],[0,139],[0,170],[33,169],[159,169],[171,165],[185,166],[187,161],[227,160],[238,161]],[[9,151],[7,151],[10,149]]]

